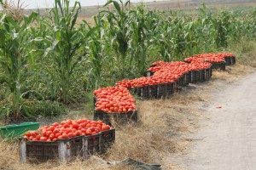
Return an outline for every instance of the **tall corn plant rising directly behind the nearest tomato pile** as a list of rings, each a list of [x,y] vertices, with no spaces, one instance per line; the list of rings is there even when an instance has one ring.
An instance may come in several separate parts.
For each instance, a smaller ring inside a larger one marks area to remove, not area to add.
[[[85,53],[82,53],[85,38],[89,37],[90,31],[84,33],[81,27],[76,28],[81,6],[76,2],[70,10],[68,0],[55,0],[55,8],[50,10],[44,24],[50,31],[45,40],[50,43],[44,56],[49,55],[53,61],[51,70],[60,82],[55,81],[55,86],[61,91],[61,101],[68,104],[71,101],[71,87],[78,74],[74,74],[79,64],[81,64]],[[82,88],[82,87],[80,87]]]

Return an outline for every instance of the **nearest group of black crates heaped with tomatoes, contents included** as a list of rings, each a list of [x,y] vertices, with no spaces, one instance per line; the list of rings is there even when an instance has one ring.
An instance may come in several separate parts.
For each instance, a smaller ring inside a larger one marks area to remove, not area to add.
[[[20,161],[44,162],[49,160],[68,162],[76,157],[88,157],[102,153],[113,144],[113,138],[105,140],[106,134],[115,129],[102,121],[88,119],[67,120],[60,124],[28,131],[20,138]]]

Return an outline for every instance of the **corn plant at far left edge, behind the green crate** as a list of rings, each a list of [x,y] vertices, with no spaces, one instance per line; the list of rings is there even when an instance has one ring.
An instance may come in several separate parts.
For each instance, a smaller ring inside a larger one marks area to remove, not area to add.
[[[0,82],[8,87],[8,99],[1,109],[4,116],[31,116],[24,104],[21,88],[26,80],[28,60],[32,56],[34,37],[30,34],[30,25],[37,18],[36,13],[29,16],[14,17],[3,14],[0,19]],[[25,115],[21,115],[23,111]]]

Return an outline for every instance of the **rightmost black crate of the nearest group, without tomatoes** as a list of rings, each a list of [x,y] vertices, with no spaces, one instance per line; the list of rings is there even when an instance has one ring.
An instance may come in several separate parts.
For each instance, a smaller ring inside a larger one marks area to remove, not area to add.
[[[113,128],[107,131],[102,131],[99,136],[99,150],[101,154],[104,154],[115,141],[115,129]]]

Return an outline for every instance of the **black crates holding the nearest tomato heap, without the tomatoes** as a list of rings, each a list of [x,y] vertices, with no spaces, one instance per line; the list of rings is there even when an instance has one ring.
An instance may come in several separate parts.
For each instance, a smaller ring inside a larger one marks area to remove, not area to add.
[[[58,139],[54,142],[20,138],[20,162],[61,161],[67,163],[77,157],[85,159],[91,155],[106,153],[114,141],[115,129],[90,136]]]

